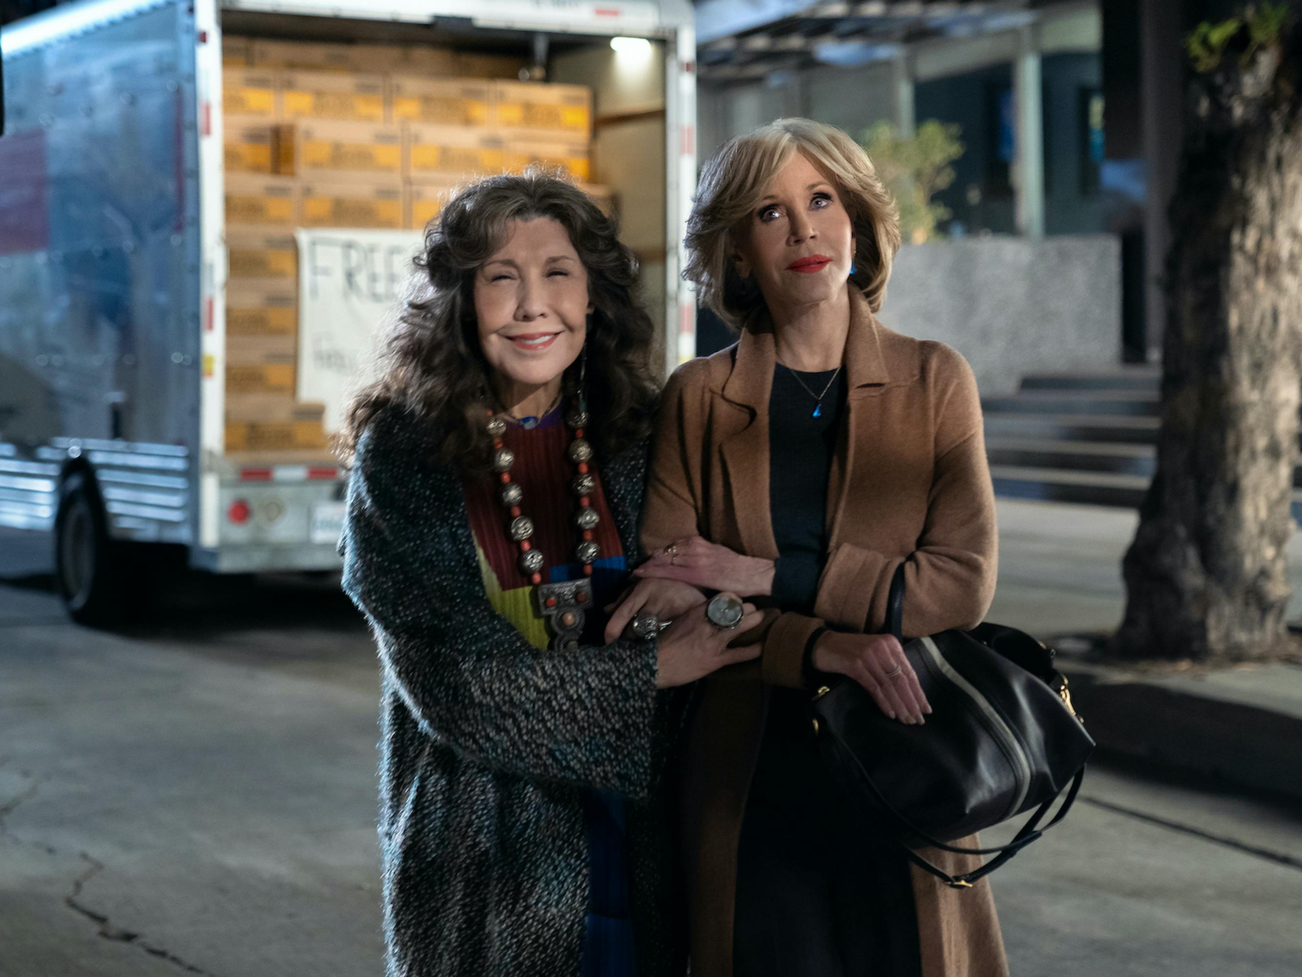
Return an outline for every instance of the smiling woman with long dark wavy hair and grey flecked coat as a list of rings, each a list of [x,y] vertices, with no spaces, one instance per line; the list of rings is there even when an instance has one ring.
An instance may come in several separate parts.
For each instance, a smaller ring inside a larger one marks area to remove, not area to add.
[[[456,194],[417,264],[427,287],[345,432],[389,977],[682,974],[660,789],[676,687],[758,647],[728,649],[668,582],[642,637],[602,645],[658,396],[635,261],[581,190],[531,172]]]

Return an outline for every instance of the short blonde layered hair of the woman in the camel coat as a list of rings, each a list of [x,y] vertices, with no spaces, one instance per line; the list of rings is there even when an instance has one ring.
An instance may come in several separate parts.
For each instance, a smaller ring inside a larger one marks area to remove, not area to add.
[[[706,163],[687,218],[687,267],[700,300],[733,328],[763,309],[759,289],[733,267],[730,232],[749,216],[769,184],[803,152],[829,176],[850,214],[855,272],[850,284],[863,292],[872,311],[887,297],[891,263],[900,250],[900,208],[878,178],[868,154],[832,125],[809,119],[779,119],[724,143]]]

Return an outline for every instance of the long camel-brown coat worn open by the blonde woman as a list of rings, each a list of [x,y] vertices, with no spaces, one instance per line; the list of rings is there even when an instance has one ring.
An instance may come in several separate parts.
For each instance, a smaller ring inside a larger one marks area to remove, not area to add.
[[[776,559],[768,504],[768,396],[776,353],[766,326],[669,379],[643,509],[650,552],[699,534]],[[995,498],[980,401],[967,362],[940,343],[883,327],[852,289],[846,417],[828,488],[829,545],[815,615],[771,612],[758,662],[702,685],[682,782],[693,977],[730,977],[737,844],[772,685],[805,688],[802,659],[824,623],[884,629],[905,564],[904,632],[976,625],[995,593]],[[956,844],[978,847],[975,836]],[[950,874],[973,856],[924,849]],[[1004,977],[990,885],[952,890],[914,868],[923,977]]]

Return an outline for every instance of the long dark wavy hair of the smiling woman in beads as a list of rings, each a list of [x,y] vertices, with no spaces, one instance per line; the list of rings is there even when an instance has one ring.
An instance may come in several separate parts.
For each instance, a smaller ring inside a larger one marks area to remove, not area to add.
[[[491,367],[479,348],[474,276],[513,220],[549,218],[565,228],[587,270],[587,438],[607,457],[644,438],[659,397],[651,369],[655,327],[637,296],[637,258],[618,227],[579,188],[540,168],[491,176],[454,191],[424,232],[417,288],[389,328],[380,378],[345,412],[339,449],[352,462],[367,425],[400,409],[428,434],[431,457],[488,470],[484,397]],[[578,366],[565,378],[573,388]]]

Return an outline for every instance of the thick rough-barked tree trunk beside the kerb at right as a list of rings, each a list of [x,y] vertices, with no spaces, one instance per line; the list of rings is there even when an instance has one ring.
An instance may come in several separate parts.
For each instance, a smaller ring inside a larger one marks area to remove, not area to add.
[[[1124,561],[1125,658],[1288,646],[1302,391],[1302,43],[1191,86],[1170,205],[1157,474]]]

